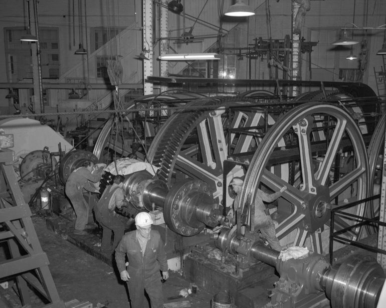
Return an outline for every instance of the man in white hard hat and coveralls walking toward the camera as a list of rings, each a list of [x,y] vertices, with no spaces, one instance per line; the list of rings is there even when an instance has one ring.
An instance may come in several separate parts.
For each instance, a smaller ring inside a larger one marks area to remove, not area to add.
[[[161,278],[169,277],[166,253],[158,231],[151,229],[153,220],[147,212],[135,216],[136,230],[123,235],[115,249],[115,260],[121,279],[127,281],[131,308],[142,308],[144,290],[151,308],[163,308]],[[125,254],[129,265],[125,267]],[[162,271],[162,277],[159,270]]]

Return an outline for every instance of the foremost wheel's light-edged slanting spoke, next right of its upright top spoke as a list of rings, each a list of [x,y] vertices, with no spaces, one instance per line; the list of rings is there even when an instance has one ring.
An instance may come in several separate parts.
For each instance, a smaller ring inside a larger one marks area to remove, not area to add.
[[[319,185],[327,185],[327,181],[329,178],[329,173],[331,170],[332,163],[334,162],[334,158],[336,155],[336,152],[338,150],[340,141],[342,140],[342,136],[344,133],[344,129],[346,127],[347,121],[344,119],[338,119],[334,133],[331,137],[331,140],[328,144],[327,152],[324,156],[322,165],[320,167],[320,171],[318,173],[318,176],[316,178],[316,181]]]

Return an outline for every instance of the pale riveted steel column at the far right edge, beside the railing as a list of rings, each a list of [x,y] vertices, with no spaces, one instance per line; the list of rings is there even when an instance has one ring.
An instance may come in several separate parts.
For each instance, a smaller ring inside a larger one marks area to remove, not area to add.
[[[386,140],[386,132],[385,132]],[[386,141],[383,145],[383,172],[382,172],[382,185],[380,193],[380,202],[379,202],[379,221],[386,222],[386,215],[384,213],[386,208]],[[386,227],[379,225],[378,230],[378,248],[386,250]],[[377,253],[376,260],[383,267],[386,268],[386,255],[382,253]]]

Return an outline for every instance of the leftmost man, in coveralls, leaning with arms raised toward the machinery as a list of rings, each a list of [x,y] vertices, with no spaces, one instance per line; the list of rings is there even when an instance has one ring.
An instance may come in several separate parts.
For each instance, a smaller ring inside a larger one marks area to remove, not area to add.
[[[100,175],[92,174],[94,162],[86,160],[83,166],[71,172],[66,182],[66,194],[70,199],[76,213],[74,234],[88,234],[84,229],[94,226],[86,225],[88,222],[89,206],[83,197],[83,189],[91,192],[99,192],[95,186],[90,185],[89,180],[96,183],[101,179]]]

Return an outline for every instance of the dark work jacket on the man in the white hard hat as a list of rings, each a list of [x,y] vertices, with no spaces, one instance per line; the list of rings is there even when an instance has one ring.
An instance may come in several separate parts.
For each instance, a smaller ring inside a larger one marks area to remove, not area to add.
[[[129,260],[127,271],[130,278],[143,277],[146,279],[157,271],[159,272],[159,269],[167,271],[166,252],[159,232],[156,230],[150,231],[143,255],[136,233],[137,230],[134,230],[123,235],[118,247],[115,249],[115,260],[119,272],[126,269],[125,253]]]

